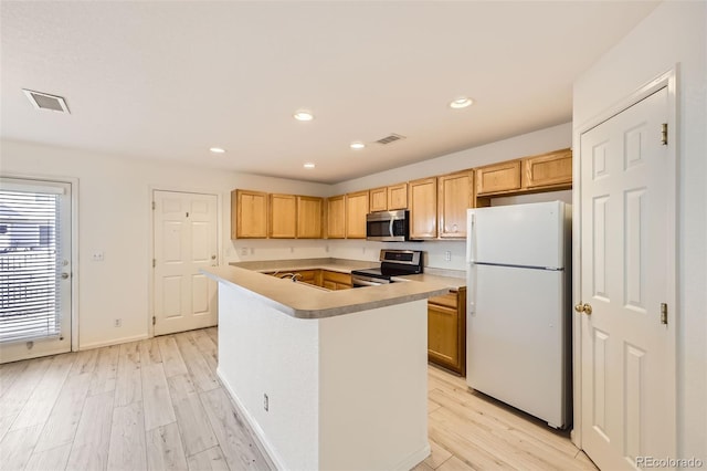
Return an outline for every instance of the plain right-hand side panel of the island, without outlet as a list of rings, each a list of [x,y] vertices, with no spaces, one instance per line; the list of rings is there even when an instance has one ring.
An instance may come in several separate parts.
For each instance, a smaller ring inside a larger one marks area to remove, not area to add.
[[[428,302],[319,321],[320,469],[409,470],[428,442]]]

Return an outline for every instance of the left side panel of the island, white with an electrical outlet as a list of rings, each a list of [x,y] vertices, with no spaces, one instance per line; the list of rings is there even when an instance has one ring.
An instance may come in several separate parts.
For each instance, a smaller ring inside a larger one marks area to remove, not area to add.
[[[219,283],[218,373],[278,469],[320,469],[317,331]]]

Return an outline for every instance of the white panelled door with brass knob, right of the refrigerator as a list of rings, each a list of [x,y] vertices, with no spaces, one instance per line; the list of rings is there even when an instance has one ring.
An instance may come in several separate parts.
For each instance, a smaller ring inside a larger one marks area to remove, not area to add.
[[[600,469],[676,456],[667,122],[664,87],[580,138],[581,442]]]

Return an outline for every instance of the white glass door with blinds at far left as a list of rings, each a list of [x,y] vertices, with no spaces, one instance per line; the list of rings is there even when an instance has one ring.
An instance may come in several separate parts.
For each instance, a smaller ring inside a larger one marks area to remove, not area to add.
[[[0,178],[0,363],[71,350],[71,190]]]

